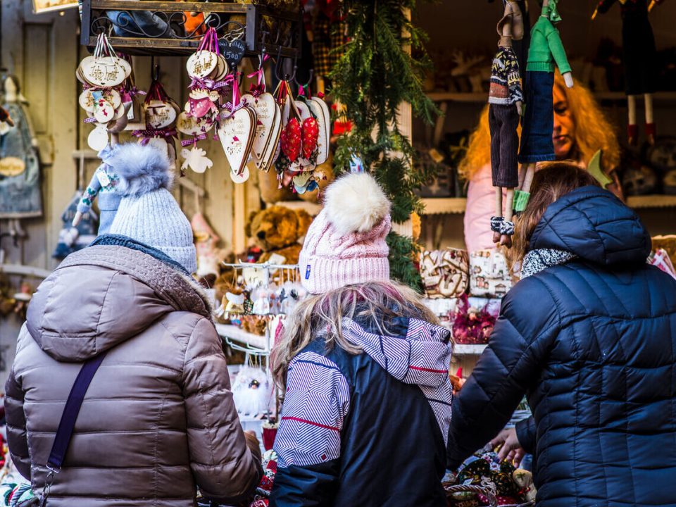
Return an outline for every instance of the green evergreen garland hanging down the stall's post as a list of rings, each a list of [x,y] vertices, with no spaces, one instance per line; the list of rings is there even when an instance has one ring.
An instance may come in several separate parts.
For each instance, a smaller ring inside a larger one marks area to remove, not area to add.
[[[363,162],[392,201],[392,220],[403,223],[423,212],[414,190],[430,174],[413,169],[414,151],[396,125],[401,103],[432,123],[438,113],[423,92],[424,71],[430,65],[423,48],[425,33],[406,15],[415,0],[345,0],[349,37],[333,71],[332,95],[345,107],[352,130],[338,139],[334,172],[349,171],[353,156]],[[411,52],[415,58],[411,56]],[[392,277],[420,290],[413,263],[418,245],[411,237],[390,232],[387,237]]]

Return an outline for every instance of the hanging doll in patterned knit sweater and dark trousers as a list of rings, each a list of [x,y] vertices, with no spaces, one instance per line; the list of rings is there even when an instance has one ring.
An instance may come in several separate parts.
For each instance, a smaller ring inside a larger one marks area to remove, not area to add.
[[[519,137],[516,130],[523,104],[519,63],[512,48],[512,39],[522,39],[523,18],[515,1],[503,0],[503,3],[505,11],[497,26],[500,39],[491,68],[488,98],[491,168],[495,187],[495,216],[491,218],[491,230],[494,243],[511,246],[514,234],[512,204],[514,189],[519,186]],[[504,215],[503,189],[507,189]]]

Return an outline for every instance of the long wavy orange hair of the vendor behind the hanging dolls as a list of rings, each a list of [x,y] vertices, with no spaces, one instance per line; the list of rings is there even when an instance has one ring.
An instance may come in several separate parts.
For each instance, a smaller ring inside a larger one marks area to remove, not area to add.
[[[603,170],[610,174],[620,164],[620,144],[615,130],[601,111],[592,92],[577,80],[572,88],[565,87],[561,73],[556,70],[554,86],[565,95],[570,114],[575,120],[575,148],[582,161],[587,165],[596,151],[603,150]],[[521,129],[519,127],[519,135]],[[465,180],[472,180],[474,175],[491,162],[491,132],[488,126],[488,106],[484,107],[479,125],[470,137],[467,155],[458,167],[458,173]]]

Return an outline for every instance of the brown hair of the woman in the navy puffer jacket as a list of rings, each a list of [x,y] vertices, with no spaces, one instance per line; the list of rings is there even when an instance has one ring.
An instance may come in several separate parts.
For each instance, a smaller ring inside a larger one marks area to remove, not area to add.
[[[580,187],[595,185],[599,187],[592,175],[570,162],[543,163],[542,169],[535,173],[530,191],[530,200],[523,214],[515,221],[515,233],[512,247],[507,251],[507,261],[510,266],[520,262],[525,257],[530,238],[535,227],[547,207],[561,196]]]

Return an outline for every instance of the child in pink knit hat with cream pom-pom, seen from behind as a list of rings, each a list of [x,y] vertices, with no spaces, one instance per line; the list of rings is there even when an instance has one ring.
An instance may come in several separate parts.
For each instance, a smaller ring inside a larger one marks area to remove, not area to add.
[[[390,204],[368,174],[327,187],[300,254],[311,294],[273,351],[284,394],[270,507],[444,507],[450,334],[389,280]]]

